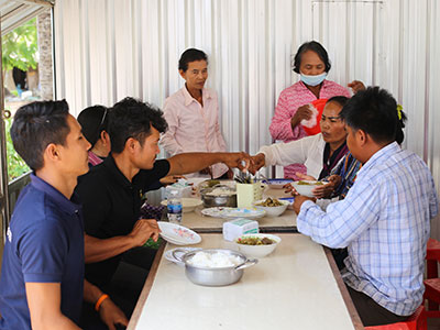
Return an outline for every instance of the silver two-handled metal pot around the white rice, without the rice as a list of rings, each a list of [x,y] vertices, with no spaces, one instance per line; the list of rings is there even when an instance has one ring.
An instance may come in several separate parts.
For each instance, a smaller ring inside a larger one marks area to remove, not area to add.
[[[187,252],[182,256],[177,253],[178,251],[178,249],[173,251],[173,257],[182,261],[185,264],[186,277],[188,277],[188,279],[194,284],[204,286],[224,286],[233,284],[240,280],[240,278],[243,276],[244,268],[255,265],[258,262],[256,258],[249,260],[244,254],[238,251],[227,249],[210,249],[202,251],[210,254],[220,252],[229,255],[234,255],[238,256],[242,261],[242,263],[237,266],[229,267],[197,267],[188,264],[188,260],[200,251]]]

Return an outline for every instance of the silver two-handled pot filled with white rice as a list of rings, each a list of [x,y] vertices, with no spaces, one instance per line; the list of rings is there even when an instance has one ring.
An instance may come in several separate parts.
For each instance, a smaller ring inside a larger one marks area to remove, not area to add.
[[[185,274],[189,280],[204,286],[233,284],[243,276],[244,268],[258,262],[227,249],[199,250],[187,252],[183,256],[173,256],[185,264]]]

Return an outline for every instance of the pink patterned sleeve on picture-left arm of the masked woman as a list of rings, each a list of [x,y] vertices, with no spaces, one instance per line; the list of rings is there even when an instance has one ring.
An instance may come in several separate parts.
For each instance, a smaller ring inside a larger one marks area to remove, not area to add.
[[[275,108],[275,116],[272,119],[272,123],[268,128],[274,140],[290,141],[299,138],[299,127],[296,127],[294,130],[292,130],[290,124],[290,119],[295,114],[296,110],[297,109],[292,111],[292,105],[288,103],[286,94],[282,91],[278,98],[278,103]]]

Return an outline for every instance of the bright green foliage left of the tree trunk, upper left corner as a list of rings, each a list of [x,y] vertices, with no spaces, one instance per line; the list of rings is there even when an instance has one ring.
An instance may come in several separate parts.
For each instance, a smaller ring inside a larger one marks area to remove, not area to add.
[[[36,19],[32,19],[2,36],[3,70],[10,70],[13,67],[23,72],[31,67],[35,69],[37,51]]]

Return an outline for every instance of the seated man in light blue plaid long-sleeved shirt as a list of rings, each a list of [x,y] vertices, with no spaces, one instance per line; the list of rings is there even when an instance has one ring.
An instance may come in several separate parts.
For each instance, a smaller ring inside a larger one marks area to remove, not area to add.
[[[363,166],[344,200],[327,211],[298,196],[298,230],[320,244],[348,248],[341,271],[364,326],[403,321],[422,301],[426,244],[439,201],[432,176],[399,147],[403,113],[378,87],[343,108],[346,144]]]

